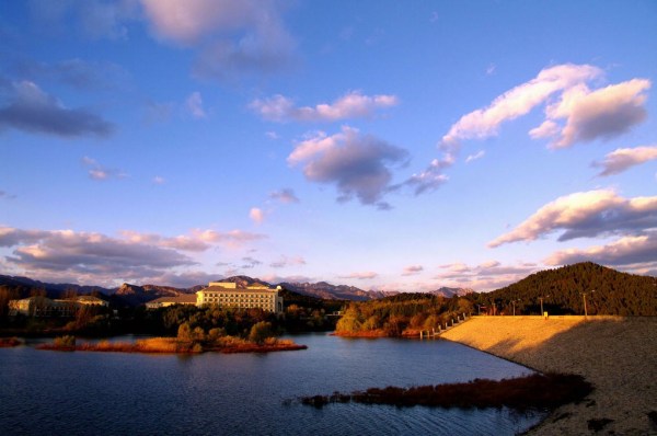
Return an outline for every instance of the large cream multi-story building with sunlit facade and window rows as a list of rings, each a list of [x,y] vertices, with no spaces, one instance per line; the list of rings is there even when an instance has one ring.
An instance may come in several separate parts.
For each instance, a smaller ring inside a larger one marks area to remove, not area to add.
[[[246,288],[238,288],[231,282],[210,282],[207,288],[196,292],[196,306],[218,305],[239,309],[263,309],[268,312],[283,313],[280,286],[269,288],[266,285],[253,284]]]

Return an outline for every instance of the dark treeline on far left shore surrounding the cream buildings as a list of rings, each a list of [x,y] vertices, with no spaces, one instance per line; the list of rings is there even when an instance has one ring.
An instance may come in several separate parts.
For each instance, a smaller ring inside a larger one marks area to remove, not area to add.
[[[32,292],[36,295],[36,292]],[[71,299],[77,294],[71,294]],[[0,287],[0,335],[59,335],[112,336],[128,333],[176,336],[182,325],[198,334],[246,337],[253,325],[269,323],[273,331],[308,332],[333,331],[337,317],[327,314],[339,310],[343,301],[322,300],[284,291],[285,310],[281,315],[262,309],[221,308],[176,305],[155,310],[146,307],[120,307],[111,301],[108,308],[80,306],[72,317],[8,315],[8,302],[20,298],[15,289]],[[198,335],[197,334],[197,335]]]

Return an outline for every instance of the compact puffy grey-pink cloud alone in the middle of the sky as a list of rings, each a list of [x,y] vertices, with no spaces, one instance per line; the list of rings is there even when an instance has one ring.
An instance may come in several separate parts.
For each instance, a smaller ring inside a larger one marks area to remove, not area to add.
[[[297,144],[288,163],[303,164],[312,182],[334,183],[338,202],[356,196],[364,205],[383,209],[390,207],[381,199],[391,188],[390,165],[404,163],[406,157],[405,150],[345,126],[333,136],[318,133]]]

